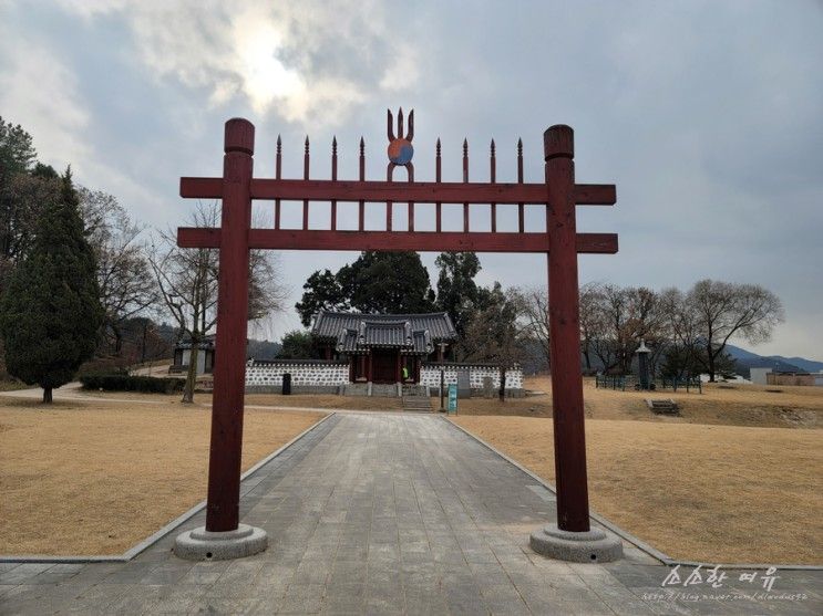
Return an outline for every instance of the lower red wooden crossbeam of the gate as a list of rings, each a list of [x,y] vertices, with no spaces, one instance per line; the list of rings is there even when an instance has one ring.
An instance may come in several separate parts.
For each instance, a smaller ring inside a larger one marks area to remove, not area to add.
[[[181,227],[181,248],[219,248],[220,230]],[[381,250],[419,252],[548,252],[547,233],[460,231],[329,231],[250,229],[248,247],[272,250]],[[614,254],[616,233],[577,233],[577,252]]]

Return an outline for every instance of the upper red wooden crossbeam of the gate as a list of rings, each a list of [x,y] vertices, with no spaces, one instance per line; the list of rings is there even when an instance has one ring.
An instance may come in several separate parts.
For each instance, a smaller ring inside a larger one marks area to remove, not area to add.
[[[223,198],[222,178],[181,178],[181,197]],[[419,203],[546,203],[545,184],[393,182],[304,179],[253,179],[253,199],[295,201],[415,201]],[[614,206],[613,184],[575,185],[578,206]]]

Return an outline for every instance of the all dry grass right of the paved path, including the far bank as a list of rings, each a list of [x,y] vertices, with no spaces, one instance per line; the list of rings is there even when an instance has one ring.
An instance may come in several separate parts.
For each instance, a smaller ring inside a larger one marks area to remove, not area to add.
[[[649,394],[588,385],[593,509],[676,558],[823,564],[823,390],[764,389],[665,394],[683,416],[660,417]],[[538,399],[502,405],[537,417],[494,416],[500,403],[482,400],[455,421],[554,481],[551,403]]]

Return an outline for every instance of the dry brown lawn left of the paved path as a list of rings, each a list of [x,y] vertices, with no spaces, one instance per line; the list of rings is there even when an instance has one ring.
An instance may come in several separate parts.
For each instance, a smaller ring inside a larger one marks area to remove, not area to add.
[[[119,554],[202,501],[209,414],[0,398],[0,554]],[[322,417],[246,410],[243,469]]]

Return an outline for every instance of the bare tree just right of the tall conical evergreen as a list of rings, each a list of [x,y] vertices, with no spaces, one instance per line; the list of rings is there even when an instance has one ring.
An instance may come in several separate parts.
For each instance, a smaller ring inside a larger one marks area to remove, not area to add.
[[[141,242],[143,227],[132,221],[117,199],[81,187],[81,216],[97,259],[100,303],[105,311],[104,336],[115,354],[123,345],[123,324],[155,306],[157,283]]]

